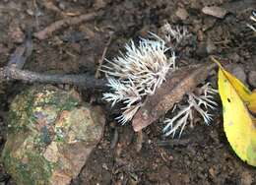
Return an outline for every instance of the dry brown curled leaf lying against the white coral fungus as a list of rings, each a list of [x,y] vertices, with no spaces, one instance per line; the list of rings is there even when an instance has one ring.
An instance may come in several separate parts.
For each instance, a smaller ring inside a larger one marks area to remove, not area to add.
[[[183,67],[166,76],[164,82],[154,95],[147,96],[144,105],[135,114],[132,125],[135,132],[142,130],[158,120],[183,95],[193,90],[206,80],[216,64],[199,64]]]

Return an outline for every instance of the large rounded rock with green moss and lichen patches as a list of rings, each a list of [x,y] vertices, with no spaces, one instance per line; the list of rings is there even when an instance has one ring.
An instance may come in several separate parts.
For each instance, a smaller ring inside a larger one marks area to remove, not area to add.
[[[35,86],[10,106],[5,168],[21,185],[69,184],[102,136],[104,114],[78,92]]]

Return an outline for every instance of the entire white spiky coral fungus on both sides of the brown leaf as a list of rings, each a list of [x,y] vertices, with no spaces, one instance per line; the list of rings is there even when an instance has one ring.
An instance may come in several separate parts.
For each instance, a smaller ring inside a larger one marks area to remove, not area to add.
[[[166,42],[173,41],[176,44],[189,36],[185,28],[172,29],[169,25],[164,26],[163,34]],[[116,118],[122,124],[133,118],[146,95],[152,95],[160,88],[166,74],[176,70],[175,53],[172,52],[168,57],[164,40],[154,33],[152,35],[154,39],[140,39],[138,46],[133,41],[126,44],[124,53],[111,61],[106,60],[102,66],[101,71],[106,74],[110,88],[110,92],[103,93],[103,99],[111,102],[112,106],[117,102],[124,104],[121,115]],[[216,105],[211,94],[215,91],[208,84],[202,90],[199,95],[190,92],[188,106],[180,109],[172,118],[164,120],[165,136],[174,137],[179,129],[180,136],[186,124],[193,123],[193,109],[209,124],[212,117],[207,109]]]

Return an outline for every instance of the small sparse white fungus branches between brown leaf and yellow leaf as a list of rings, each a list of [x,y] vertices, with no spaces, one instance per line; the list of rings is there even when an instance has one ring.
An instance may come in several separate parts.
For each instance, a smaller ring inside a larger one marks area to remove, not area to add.
[[[203,86],[201,90],[202,93],[199,95],[193,92],[188,93],[188,105],[179,110],[174,117],[167,118],[163,121],[163,123],[166,124],[162,130],[165,136],[172,135],[174,138],[176,131],[180,129],[180,137],[188,122],[192,126],[194,118],[193,110],[196,110],[202,116],[207,125],[210,124],[213,115],[208,113],[208,109],[215,109],[218,105],[217,102],[214,101],[213,96],[218,91],[212,89],[209,83]]]

